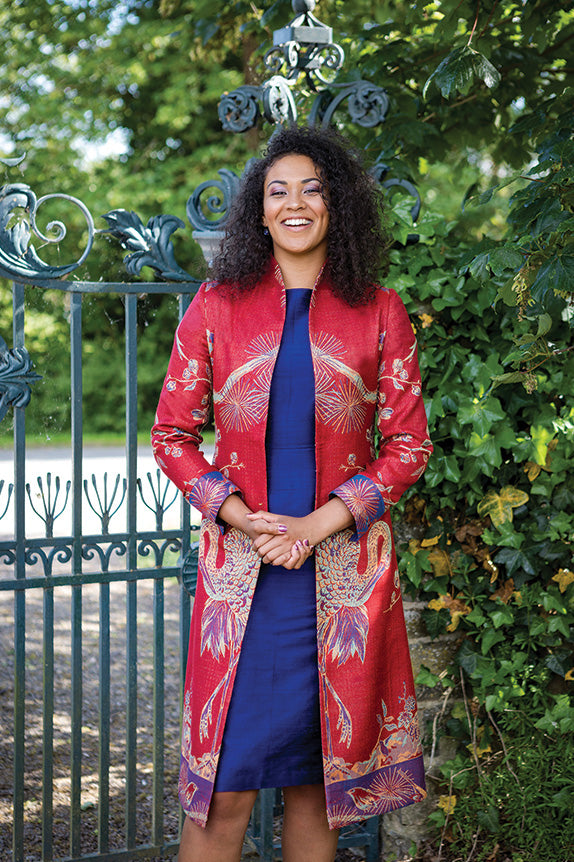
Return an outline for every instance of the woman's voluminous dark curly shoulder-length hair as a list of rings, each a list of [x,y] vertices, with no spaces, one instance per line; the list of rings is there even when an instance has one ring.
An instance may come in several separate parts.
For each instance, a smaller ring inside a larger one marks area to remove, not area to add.
[[[368,302],[388,268],[382,191],[360,153],[335,129],[291,126],[273,134],[263,157],[245,172],[221,250],[211,265],[212,277],[248,290],[267,269],[273,246],[263,230],[264,181],[271,165],[288,155],[308,156],[325,184],[327,267],[334,292],[349,305]]]

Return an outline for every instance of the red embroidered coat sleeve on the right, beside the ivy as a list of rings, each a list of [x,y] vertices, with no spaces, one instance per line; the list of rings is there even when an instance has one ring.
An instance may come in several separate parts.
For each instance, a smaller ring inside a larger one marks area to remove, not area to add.
[[[379,333],[378,457],[332,492],[353,515],[358,536],[424,473],[432,452],[416,338],[401,298],[394,290],[388,296]]]

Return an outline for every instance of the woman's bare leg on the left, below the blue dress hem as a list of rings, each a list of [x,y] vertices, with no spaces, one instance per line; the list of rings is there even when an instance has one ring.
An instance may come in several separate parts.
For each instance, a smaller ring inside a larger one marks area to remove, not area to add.
[[[207,826],[185,818],[178,862],[240,862],[256,790],[214,793]]]

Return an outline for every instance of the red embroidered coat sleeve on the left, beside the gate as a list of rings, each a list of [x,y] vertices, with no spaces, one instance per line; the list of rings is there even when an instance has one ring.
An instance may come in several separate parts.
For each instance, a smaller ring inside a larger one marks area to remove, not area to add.
[[[179,324],[161,390],[152,448],[159,467],[204,517],[215,520],[223,501],[239,491],[201,451],[212,399],[212,336],[202,285]]]

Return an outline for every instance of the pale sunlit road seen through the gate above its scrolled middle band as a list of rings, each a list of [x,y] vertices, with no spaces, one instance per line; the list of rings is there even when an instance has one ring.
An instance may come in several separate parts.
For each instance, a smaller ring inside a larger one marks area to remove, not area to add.
[[[211,457],[211,453],[207,453],[207,457]],[[154,487],[157,484],[157,465],[153,460],[149,447],[142,446],[138,448],[137,454],[137,474],[142,480],[143,492],[148,503],[153,505],[153,495],[147,478],[149,473],[152,477]],[[54,535],[70,535],[71,533],[71,500],[68,498],[64,506],[66,498],[66,482],[72,478],[72,459],[69,449],[30,449],[26,452],[26,482],[30,484],[30,492],[34,506],[39,512],[43,512],[42,499],[38,486],[38,477],[41,478],[44,492],[48,487],[48,474],[51,476],[51,494],[52,500],[56,494],[56,476],[60,478],[60,491],[56,500],[56,511],[60,511],[63,507],[62,514],[57,518]],[[95,477],[96,486],[100,494],[100,498],[104,499],[104,474],[107,474],[107,496],[108,500],[112,499],[116,477],[120,476],[118,483],[118,491],[116,492],[115,505],[119,504],[122,494],[122,480],[127,474],[125,451],[121,448],[111,447],[89,447],[84,449],[83,459],[83,477],[88,482],[88,493],[92,503],[97,506],[95,490],[92,484],[92,476]],[[7,500],[8,485],[14,481],[14,468],[12,460],[12,450],[0,450],[0,483],[4,480],[4,487],[0,491],[0,515],[4,511]],[[161,488],[165,487],[165,477],[161,478]],[[168,491],[166,504],[175,496],[175,487],[172,486]],[[179,525],[180,504],[179,499],[168,509],[164,517],[164,528],[176,529]],[[100,519],[97,517],[84,494],[83,502],[83,531],[85,534],[96,534],[101,532]],[[155,516],[145,504],[142,502],[138,494],[138,509],[137,509],[138,530],[155,530]],[[126,505],[125,501],[118,508],[118,511],[113,515],[110,522],[110,532],[122,532],[126,529]],[[14,511],[13,498],[10,501],[5,516],[0,520],[0,537],[7,538],[14,535]],[[42,519],[34,512],[32,505],[26,497],[26,535],[30,538],[45,535],[45,528]]]

